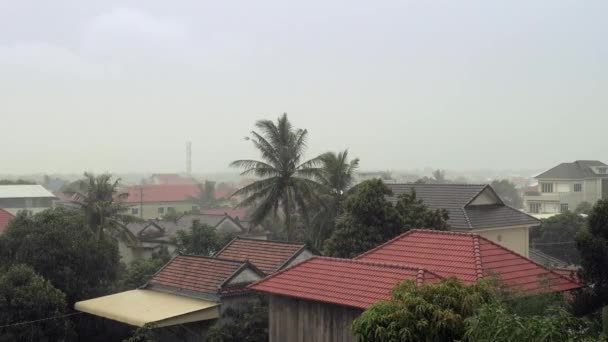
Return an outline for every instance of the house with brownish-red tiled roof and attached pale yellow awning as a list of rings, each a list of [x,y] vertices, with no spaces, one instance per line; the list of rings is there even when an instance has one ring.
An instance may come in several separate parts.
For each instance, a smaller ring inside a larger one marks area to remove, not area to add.
[[[247,261],[179,255],[139,289],[77,302],[77,311],[131,326],[153,324],[159,341],[200,341],[246,285],[264,274]]]

